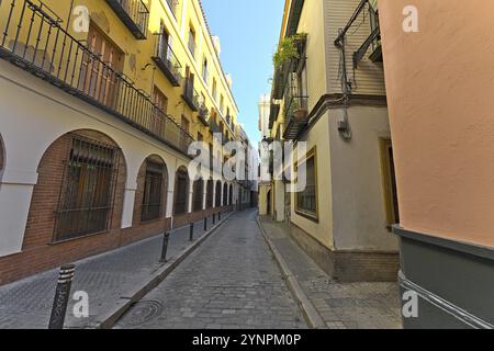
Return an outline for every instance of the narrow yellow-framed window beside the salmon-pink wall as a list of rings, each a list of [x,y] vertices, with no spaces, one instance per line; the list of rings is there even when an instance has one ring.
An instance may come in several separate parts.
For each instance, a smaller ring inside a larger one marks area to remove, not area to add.
[[[394,169],[393,146],[391,139],[381,139],[380,149],[386,228],[391,231],[392,226],[400,223],[396,174]]]

